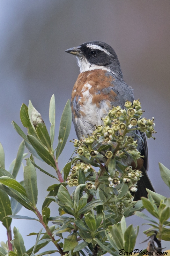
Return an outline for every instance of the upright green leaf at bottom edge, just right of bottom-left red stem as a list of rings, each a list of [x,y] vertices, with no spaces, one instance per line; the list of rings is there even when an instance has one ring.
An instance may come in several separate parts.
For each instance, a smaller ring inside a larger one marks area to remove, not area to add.
[[[17,250],[17,255],[22,256],[26,252],[24,240],[23,240],[21,234],[19,233],[18,228],[14,227],[13,233],[14,233],[13,242],[14,242],[14,246]]]

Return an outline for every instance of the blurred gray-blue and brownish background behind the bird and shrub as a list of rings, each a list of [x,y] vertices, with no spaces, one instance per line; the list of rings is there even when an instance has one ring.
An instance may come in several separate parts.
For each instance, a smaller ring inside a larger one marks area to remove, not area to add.
[[[5,151],[6,169],[16,157],[22,139],[11,121],[21,126],[22,103],[33,106],[49,129],[48,111],[52,94],[56,100],[55,145],[60,117],[79,74],[76,58],[64,50],[87,41],[110,44],[118,55],[124,80],[140,98],[144,116],[155,117],[156,140],[148,140],[149,177],[159,194],[169,197],[169,188],[161,180],[158,162],[170,168],[170,1],[169,0],[0,0],[0,142]],[[22,126],[21,126],[22,127]],[[23,129],[24,130],[24,129]],[[26,132],[26,130],[25,130]],[[72,125],[70,139],[76,138]],[[73,151],[67,142],[59,159],[60,168]],[[46,171],[52,168],[37,160]],[[37,170],[41,210],[46,189],[55,181]],[[23,180],[23,170],[18,181]],[[33,216],[21,209],[19,215]],[[55,203],[51,215],[57,216]],[[32,222],[32,223],[31,223]],[[149,226],[138,217],[127,219],[128,225],[140,225],[136,249],[145,249],[142,233]],[[25,237],[41,225],[30,220],[12,220]],[[5,228],[0,223],[0,241],[6,242]],[[29,249],[35,236],[25,237]],[[166,250],[170,242],[162,242]],[[48,245],[48,249],[54,248]]]

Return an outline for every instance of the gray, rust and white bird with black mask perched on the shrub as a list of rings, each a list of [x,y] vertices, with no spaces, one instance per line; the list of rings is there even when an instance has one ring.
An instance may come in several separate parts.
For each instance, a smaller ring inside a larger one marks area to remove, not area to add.
[[[77,57],[80,74],[71,94],[72,121],[78,139],[87,137],[95,130],[95,125],[102,125],[112,106],[124,108],[125,102],[135,100],[133,89],[123,80],[120,62],[114,49],[100,41],[85,42],[65,52]],[[138,131],[137,131],[138,132]],[[142,177],[137,183],[134,200],[147,197],[146,188],[155,191],[147,175],[148,149],[143,132],[143,141],[138,139],[138,151],[144,158],[137,159],[137,169]],[[135,168],[135,163],[128,158],[127,165]]]

